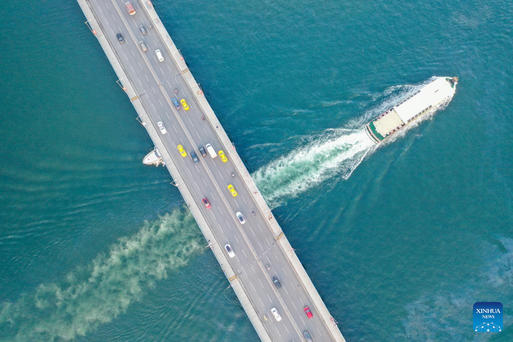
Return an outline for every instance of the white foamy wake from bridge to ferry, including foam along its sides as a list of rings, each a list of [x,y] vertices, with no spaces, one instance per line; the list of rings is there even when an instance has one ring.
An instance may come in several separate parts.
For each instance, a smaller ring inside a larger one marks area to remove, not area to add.
[[[255,171],[253,178],[269,206],[277,207],[282,204],[283,198],[297,196],[330,177],[349,178],[364,158],[376,150],[376,145],[370,141],[362,126],[436,78],[430,77],[419,85],[389,87],[381,94],[381,98],[386,96],[381,103],[365,111],[361,117],[350,120],[346,125],[358,127],[357,129],[327,130],[319,136],[309,138],[310,142],[306,146]],[[379,97],[376,96],[373,101]],[[446,105],[440,106],[438,110],[444,109]],[[396,141],[408,130],[432,116],[433,114],[429,114],[416,120],[382,145]]]

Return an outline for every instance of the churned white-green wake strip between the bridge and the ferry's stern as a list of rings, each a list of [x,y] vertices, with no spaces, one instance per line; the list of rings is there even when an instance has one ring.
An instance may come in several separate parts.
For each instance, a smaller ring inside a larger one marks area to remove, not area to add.
[[[347,179],[375,146],[365,131],[332,129],[257,170],[253,177],[271,205],[279,197],[293,197],[337,174]]]

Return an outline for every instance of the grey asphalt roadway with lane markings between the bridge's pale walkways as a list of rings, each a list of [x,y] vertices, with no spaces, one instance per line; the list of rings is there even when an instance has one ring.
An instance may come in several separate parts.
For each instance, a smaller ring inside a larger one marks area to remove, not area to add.
[[[186,186],[216,239],[223,246],[228,243],[233,248],[235,257],[228,260],[238,274],[238,280],[235,281],[241,282],[272,339],[304,341],[303,331],[308,330],[315,341],[331,340],[327,327],[319,316],[316,317],[316,309],[307,291],[300,285],[285,252],[275,244],[268,218],[257,210],[252,193],[246,188],[231,160],[223,163],[220,157],[212,159],[208,154],[203,157],[199,152],[198,147],[208,143],[216,152],[232,147],[223,147],[214,132],[216,128],[202,120],[202,109],[196,103],[194,94],[173,62],[161,36],[150,29],[150,18],[145,11],[136,1],[132,2],[137,12],[133,16],[128,14],[125,2],[121,0],[90,0],[89,3],[148,111],[151,122],[147,124],[159,131],[157,122],[163,123],[167,133],[161,133],[160,137],[185,179]],[[146,35],[141,33],[141,25],[147,31]],[[123,44],[117,40],[117,33],[123,35]],[[148,51],[142,51],[139,41],[144,41]],[[162,51],[164,62],[157,59],[156,49]],[[159,84],[163,87],[159,87]],[[178,95],[175,95],[175,89],[179,91]],[[190,109],[177,110],[171,103],[172,97],[177,97],[179,101],[186,99]],[[187,151],[186,157],[181,156],[177,145],[183,145]],[[200,159],[197,165],[190,157],[193,151]],[[234,177],[232,172],[235,173]],[[238,192],[235,197],[227,188],[230,184]],[[205,208],[203,197],[208,198],[211,209]],[[235,216],[238,211],[246,219],[244,225]],[[254,217],[252,211],[255,211]],[[266,265],[270,266],[270,270],[267,270]],[[272,276],[278,276],[281,288],[274,286]],[[313,313],[312,319],[307,318],[305,306],[309,306]],[[277,309],[281,321],[273,317],[271,308]]]

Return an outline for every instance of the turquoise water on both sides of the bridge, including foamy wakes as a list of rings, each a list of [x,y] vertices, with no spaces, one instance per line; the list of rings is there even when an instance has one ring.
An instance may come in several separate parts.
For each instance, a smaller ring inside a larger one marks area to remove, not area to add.
[[[513,339],[510,4],[154,5],[347,340]],[[0,340],[257,340],[78,5],[0,13]],[[504,331],[473,332],[476,301]]]

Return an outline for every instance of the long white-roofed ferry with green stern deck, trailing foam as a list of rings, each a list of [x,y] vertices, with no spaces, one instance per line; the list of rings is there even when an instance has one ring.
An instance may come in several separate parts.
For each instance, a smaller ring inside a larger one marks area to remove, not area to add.
[[[431,113],[450,101],[458,77],[438,77],[422,89],[403,99],[365,126],[365,132],[376,144],[399,132],[422,115]]]

